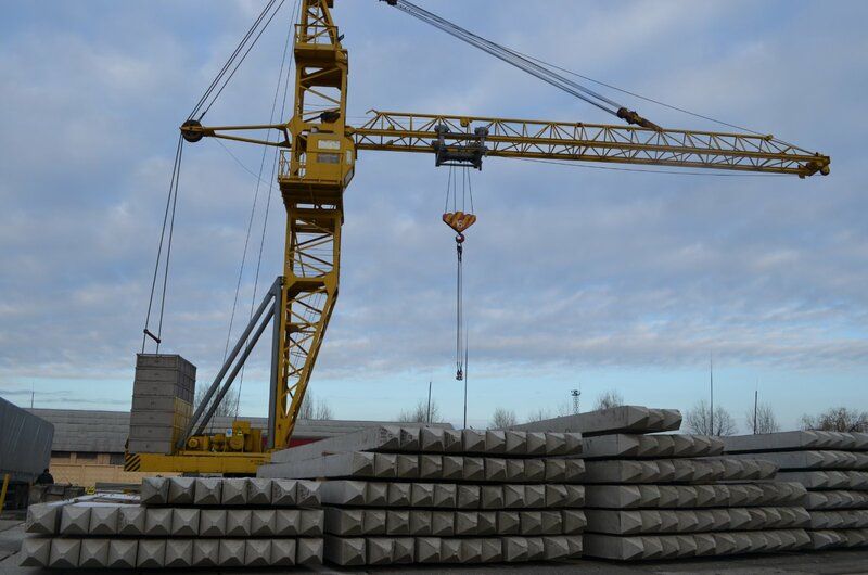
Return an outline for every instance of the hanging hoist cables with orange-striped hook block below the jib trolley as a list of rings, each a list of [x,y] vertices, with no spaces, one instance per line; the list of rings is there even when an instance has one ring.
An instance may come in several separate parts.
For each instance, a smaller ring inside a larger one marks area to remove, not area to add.
[[[461,209],[458,206],[458,182],[456,181],[455,166],[449,166],[446,180],[446,206],[443,221],[456,232],[456,333],[455,333],[455,379],[462,381],[467,368],[467,324],[464,320],[464,230],[475,221],[473,214],[473,188],[470,183],[470,168],[459,166],[461,174]],[[470,212],[465,212],[470,199]],[[449,200],[452,201],[452,210],[449,212]]]

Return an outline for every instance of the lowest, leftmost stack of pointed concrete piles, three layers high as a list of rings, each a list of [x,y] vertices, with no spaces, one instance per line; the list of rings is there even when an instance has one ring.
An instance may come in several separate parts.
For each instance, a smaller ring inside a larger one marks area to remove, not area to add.
[[[51,568],[272,567],[322,563],[318,485],[153,477],[141,500],[95,496],[29,509],[22,565]]]

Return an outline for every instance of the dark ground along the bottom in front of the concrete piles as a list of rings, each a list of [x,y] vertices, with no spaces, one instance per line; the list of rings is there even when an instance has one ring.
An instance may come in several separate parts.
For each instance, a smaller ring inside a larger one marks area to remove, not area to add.
[[[63,571],[47,571],[31,567],[20,567],[21,561],[18,549],[24,538],[24,526],[20,521],[0,520],[0,575],[37,575],[52,574],[58,575]],[[545,573],[548,575],[590,573],[590,574],[612,574],[630,575],[638,573],[707,573],[727,575],[773,575],[781,573],[794,574],[822,574],[822,575],[844,575],[865,573],[868,574],[868,549],[860,550],[838,550],[819,553],[783,553],[774,555],[745,555],[727,559],[695,559],[682,561],[660,561],[644,563],[615,563],[609,561],[598,561],[583,559],[563,564],[540,564],[529,563],[521,565],[486,565],[476,568],[468,566],[456,566],[444,568],[442,566],[413,567],[413,568],[381,568],[381,570],[339,570],[332,567],[321,567],[319,573],[412,573],[413,575],[437,574],[437,573]],[[240,573],[282,573],[282,570],[227,570],[226,574]],[[68,570],[66,573],[82,575],[82,570]],[[102,574],[106,571],[97,572]],[[117,572],[123,574],[135,573],[133,571]],[[196,570],[193,573],[205,575],[220,573],[214,570]]]

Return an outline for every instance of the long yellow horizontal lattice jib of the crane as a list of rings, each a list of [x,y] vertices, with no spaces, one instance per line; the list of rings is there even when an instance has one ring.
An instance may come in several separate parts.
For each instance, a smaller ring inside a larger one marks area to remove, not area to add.
[[[701,130],[652,130],[566,122],[373,111],[349,131],[358,150],[432,152],[437,126],[448,140],[469,141],[487,128],[486,155],[654,166],[713,168],[801,177],[829,174],[830,158],[771,136]]]

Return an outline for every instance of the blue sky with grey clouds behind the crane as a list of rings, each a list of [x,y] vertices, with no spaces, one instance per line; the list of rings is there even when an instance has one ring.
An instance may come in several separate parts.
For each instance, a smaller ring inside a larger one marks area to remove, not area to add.
[[[206,123],[268,120],[293,3]],[[715,404],[742,432],[757,389],[784,429],[830,407],[868,409],[868,3],[418,3],[564,68],[832,158],[830,176],[804,180],[487,158],[472,175],[478,221],[464,244],[468,425],[498,407],[520,420],[554,414],[579,388],[583,410],[609,389],[688,410],[709,396],[712,358]],[[618,122],[385,3],[335,4],[350,124],[371,108]],[[176,130],[263,5],[2,1],[0,396],[129,409]],[[720,129],[600,91],[666,127]],[[224,357],[261,162],[250,144],[184,149],[161,350],[195,363],[200,386]],[[446,182],[427,155],[359,154],[341,295],[310,384],[335,418],[392,420],[432,382],[442,416],[463,423]],[[279,192],[263,186],[234,336],[260,238],[258,293],[280,272],[283,223]],[[233,387],[242,414],[266,412],[267,350]]]

